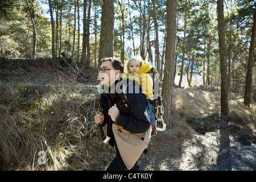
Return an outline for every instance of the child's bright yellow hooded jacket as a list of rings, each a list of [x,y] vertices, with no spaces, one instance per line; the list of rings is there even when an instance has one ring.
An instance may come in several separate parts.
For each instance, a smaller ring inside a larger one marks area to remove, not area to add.
[[[142,89],[142,93],[148,96],[151,100],[153,99],[153,80],[151,76],[147,73],[151,70],[152,65],[148,61],[142,61],[141,68],[137,74],[133,73],[124,73],[122,75],[123,79],[134,80],[139,83],[139,86]]]

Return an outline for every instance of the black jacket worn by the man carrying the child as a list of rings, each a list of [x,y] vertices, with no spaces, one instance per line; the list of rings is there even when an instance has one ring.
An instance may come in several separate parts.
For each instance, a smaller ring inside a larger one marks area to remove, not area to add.
[[[117,84],[119,81],[115,81]],[[117,121],[115,121],[116,125],[122,126],[123,129],[130,131],[130,133],[144,133],[150,128],[150,113],[149,113],[149,105],[147,102],[146,96],[141,93],[141,90],[134,86],[133,84],[129,84],[130,89],[127,89],[127,105],[119,107],[119,117]],[[133,90],[133,92],[130,92]],[[135,90],[137,90],[135,92]],[[129,93],[130,92],[130,93]],[[112,123],[111,117],[108,115],[108,110],[110,107],[114,106],[114,104],[118,105],[119,101],[123,99],[123,93],[102,93],[101,94],[101,109],[102,113],[104,113],[104,123],[101,126],[104,126],[105,123],[108,123],[108,136],[110,139],[109,144],[111,146],[114,145],[114,135],[112,131]]]

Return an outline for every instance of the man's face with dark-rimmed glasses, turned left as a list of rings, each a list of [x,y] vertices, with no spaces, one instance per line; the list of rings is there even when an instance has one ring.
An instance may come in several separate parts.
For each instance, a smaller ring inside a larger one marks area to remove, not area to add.
[[[110,86],[115,82],[115,75],[116,72],[115,69],[112,66],[112,61],[104,61],[101,64],[100,69],[107,69],[106,72],[103,72],[102,70],[98,72],[98,76],[100,77],[101,85]]]

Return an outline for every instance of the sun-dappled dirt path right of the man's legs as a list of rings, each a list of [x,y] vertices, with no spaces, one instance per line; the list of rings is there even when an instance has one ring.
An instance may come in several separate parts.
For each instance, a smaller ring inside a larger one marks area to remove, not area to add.
[[[254,171],[255,144],[241,144],[232,136],[232,130],[221,130],[198,134],[176,127],[163,133],[159,132],[151,139],[148,153],[141,157],[142,168],[154,171]]]

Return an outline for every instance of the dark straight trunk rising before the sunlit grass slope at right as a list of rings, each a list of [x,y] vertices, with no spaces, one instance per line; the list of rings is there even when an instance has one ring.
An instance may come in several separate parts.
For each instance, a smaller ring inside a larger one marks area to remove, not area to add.
[[[225,46],[225,24],[224,24],[224,4],[223,0],[217,1],[218,11],[218,46],[220,52],[220,72],[221,72],[221,114],[228,116],[228,75],[226,65],[226,46]]]

